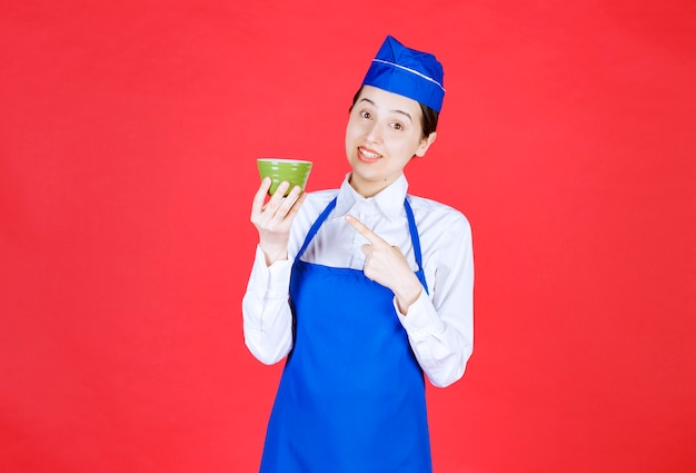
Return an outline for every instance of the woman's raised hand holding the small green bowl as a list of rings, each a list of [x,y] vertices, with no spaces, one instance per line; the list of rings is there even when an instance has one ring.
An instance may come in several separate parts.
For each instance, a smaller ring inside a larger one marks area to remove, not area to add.
[[[289,183],[284,181],[266,201],[270,185],[269,177],[261,181],[251,205],[251,223],[259,233],[259,247],[266,255],[268,266],[288,258],[290,225],[307,196],[299,186],[295,186],[290,194],[284,197],[290,187]]]

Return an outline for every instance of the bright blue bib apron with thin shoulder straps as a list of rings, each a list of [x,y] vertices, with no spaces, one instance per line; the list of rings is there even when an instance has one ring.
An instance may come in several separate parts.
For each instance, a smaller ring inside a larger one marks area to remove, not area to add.
[[[404,201],[418,270],[420,240]],[[394,293],[361,270],[300,260],[290,276],[295,345],[268,423],[261,473],[428,473],[425,381]]]

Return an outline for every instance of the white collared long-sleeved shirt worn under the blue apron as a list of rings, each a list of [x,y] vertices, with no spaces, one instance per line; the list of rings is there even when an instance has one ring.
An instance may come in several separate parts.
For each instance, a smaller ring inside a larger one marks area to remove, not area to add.
[[[266,266],[257,247],[247,292],[242,298],[245,342],[262,363],[274,364],[292,348],[292,314],[288,303],[290,270],[309,228],[326,206],[337,197],[331,211],[302,260],[325,266],[362,269],[362,245],[368,242],[346,220],[352,215],[372,231],[398,246],[414,270],[418,269],[408,230],[404,198],[408,189],[401,175],[375,197],[360,196],[344,180],[340,189],[310,193],[295,220],[288,244],[288,259]],[[474,347],[474,255],[471,229],[458,210],[421,197],[408,196],[414,210],[422,267],[429,294],[398,317],[428,380],[447,386],[464,374]],[[340,300],[337,300],[340,304]]]

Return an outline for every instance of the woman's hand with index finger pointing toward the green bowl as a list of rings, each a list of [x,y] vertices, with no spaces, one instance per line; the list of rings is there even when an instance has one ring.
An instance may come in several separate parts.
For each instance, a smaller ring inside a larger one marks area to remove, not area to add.
[[[347,215],[346,221],[369,242],[362,245],[365,276],[391,289],[399,312],[406,315],[408,307],[418,300],[422,292],[422,285],[406,257],[397,246],[389,245],[357,218]]]

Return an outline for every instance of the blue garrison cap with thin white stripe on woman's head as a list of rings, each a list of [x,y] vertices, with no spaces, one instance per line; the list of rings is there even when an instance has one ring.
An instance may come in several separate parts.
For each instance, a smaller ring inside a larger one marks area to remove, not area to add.
[[[407,48],[388,36],[362,85],[408,97],[439,112],[445,98],[444,76],[435,56]]]

